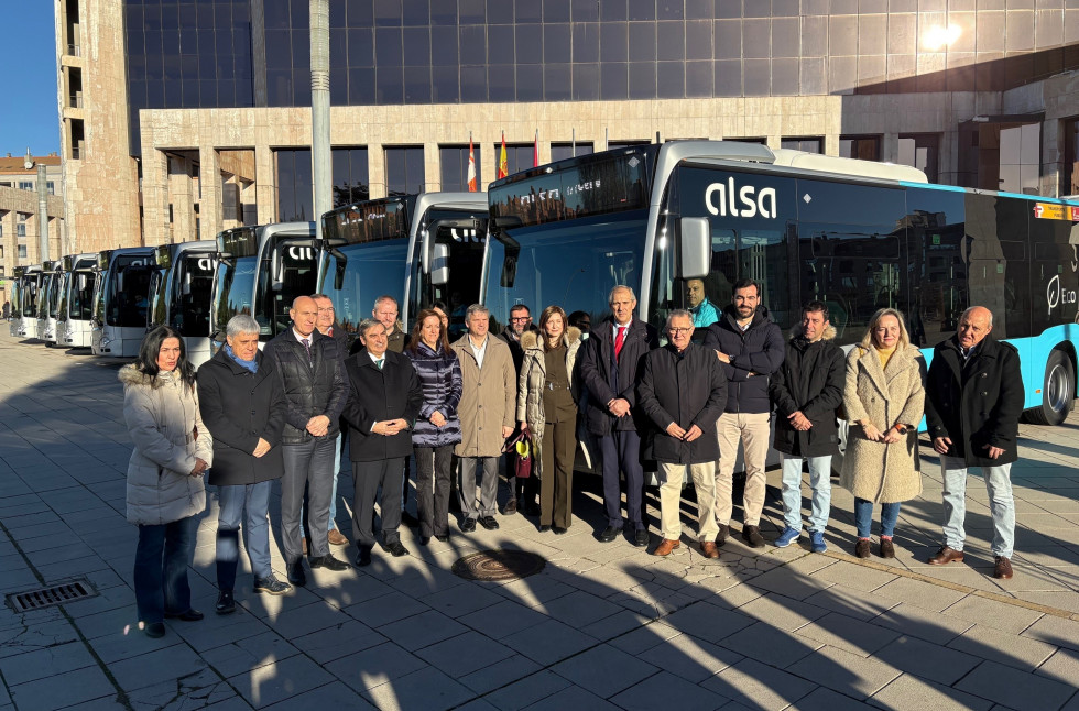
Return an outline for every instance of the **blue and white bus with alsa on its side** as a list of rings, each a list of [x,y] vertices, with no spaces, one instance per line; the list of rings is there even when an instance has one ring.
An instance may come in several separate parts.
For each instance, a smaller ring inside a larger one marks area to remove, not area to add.
[[[970,305],[1020,350],[1031,419],[1059,424],[1076,395],[1079,205],[929,185],[906,166],[763,145],[685,141],[570,158],[491,184],[483,300],[609,313],[633,286],[661,327],[702,278],[721,309],[750,277],[784,329],[826,303],[838,342],[876,309],[907,316],[927,357]]]

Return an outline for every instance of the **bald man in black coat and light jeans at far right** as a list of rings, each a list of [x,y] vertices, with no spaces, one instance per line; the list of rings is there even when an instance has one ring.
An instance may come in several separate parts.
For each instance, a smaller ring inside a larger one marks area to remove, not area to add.
[[[1007,579],[1015,542],[1011,471],[1018,459],[1023,374],[1018,351],[996,340],[992,330],[992,311],[971,306],[959,318],[956,335],[933,349],[925,405],[933,448],[940,455],[945,543],[929,564],[963,559],[967,468],[979,467],[993,516],[993,577]]]

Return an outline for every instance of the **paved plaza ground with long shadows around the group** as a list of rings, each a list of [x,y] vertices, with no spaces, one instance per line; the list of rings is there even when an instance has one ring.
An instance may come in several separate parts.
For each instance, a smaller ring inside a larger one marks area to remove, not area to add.
[[[241,572],[237,613],[218,617],[210,490],[190,573],[194,604],[208,614],[168,621],[165,637],[150,639],[135,626],[131,588],[137,532],[124,521],[119,363],[3,331],[0,593],[86,580],[97,595],[22,614],[0,608],[0,711],[1079,711],[1079,417],[1021,428],[1007,581],[990,577],[980,478],[968,490],[967,561],[925,564],[942,511],[926,446],[925,492],[903,505],[890,561],[849,555],[852,499],[838,486],[827,554],[751,550],[735,537],[708,560],[688,545],[695,506],[685,501],[683,546],[661,559],[625,539],[599,543],[600,488],[578,477],[568,535],[540,533],[522,515],[469,535],[451,522],[449,543],[428,548],[404,530],[411,556],[377,548],[372,566],[317,570],[293,594],[252,594]],[[351,491],[350,478],[340,491]],[[654,547],[654,490],[647,501]],[[339,503],[338,521],[351,537],[349,505]],[[275,529],[276,500],[271,519]],[[762,529],[771,542],[781,527],[773,470]],[[534,551],[546,566],[505,583],[450,572],[460,557],[493,548]],[[356,549],[335,554],[351,561]]]

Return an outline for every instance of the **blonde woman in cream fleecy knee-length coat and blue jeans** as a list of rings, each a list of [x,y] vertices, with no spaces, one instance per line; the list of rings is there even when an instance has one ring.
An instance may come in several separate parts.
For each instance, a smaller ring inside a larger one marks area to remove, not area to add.
[[[881,504],[882,558],[894,558],[900,505],[922,493],[918,423],[925,404],[925,361],[911,344],[903,314],[882,308],[847,356],[843,405],[850,429],[839,484],[854,494],[854,555],[870,555],[873,506]]]

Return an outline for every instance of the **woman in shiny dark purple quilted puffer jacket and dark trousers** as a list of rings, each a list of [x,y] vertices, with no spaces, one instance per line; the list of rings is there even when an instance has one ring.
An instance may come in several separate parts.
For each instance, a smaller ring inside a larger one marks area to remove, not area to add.
[[[461,367],[449,347],[442,318],[425,308],[416,316],[412,339],[405,348],[412,361],[424,402],[412,430],[416,457],[416,510],[419,543],[430,537],[449,539],[449,488],[454,445],[461,440],[457,405],[461,400]]]

